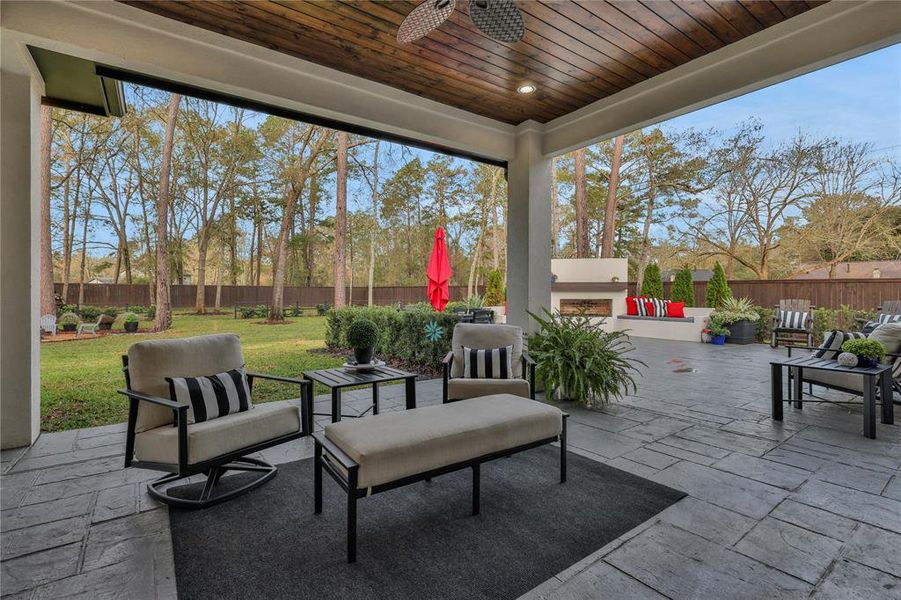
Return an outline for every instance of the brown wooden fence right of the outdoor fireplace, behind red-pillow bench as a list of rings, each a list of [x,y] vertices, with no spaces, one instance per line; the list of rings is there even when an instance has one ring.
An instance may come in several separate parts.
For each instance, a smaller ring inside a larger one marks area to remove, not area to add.
[[[707,282],[695,282],[695,306],[704,306]],[[672,283],[664,282],[669,298]],[[769,279],[730,281],[729,288],[736,298],[750,298],[758,306],[773,307],[779,300],[802,298],[819,308],[840,308],[842,305],[858,310],[873,310],[883,300],[901,300],[901,279]],[[629,284],[629,294],[635,294],[635,284]]]

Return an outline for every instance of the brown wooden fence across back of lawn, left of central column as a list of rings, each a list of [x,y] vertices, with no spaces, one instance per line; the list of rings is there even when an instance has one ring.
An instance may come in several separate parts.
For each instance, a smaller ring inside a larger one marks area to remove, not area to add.
[[[484,289],[479,289],[484,293]],[[56,284],[56,293],[62,294],[63,286]],[[78,284],[69,284],[66,304],[78,303]],[[194,306],[197,296],[196,285],[171,286],[171,300],[173,308],[190,308]],[[208,285],[205,290],[206,305],[212,307],[216,303],[216,286]],[[332,304],[335,298],[333,287],[285,287],[285,306],[316,306],[317,304]],[[351,301],[351,290],[347,288],[347,298]],[[466,298],[466,286],[455,285],[450,287],[451,300],[464,300]],[[365,305],[368,302],[368,290],[363,287],[353,288],[353,304]],[[378,305],[413,304],[425,302],[426,286],[392,286],[375,287],[372,290],[372,300]],[[269,304],[272,301],[271,286],[255,285],[223,285],[220,306],[230,309],[235,304]],[[153,304],[150,288],[146,284],[107,284],[88,283],[84,286],[84,304],[86,306],[149,306]]]

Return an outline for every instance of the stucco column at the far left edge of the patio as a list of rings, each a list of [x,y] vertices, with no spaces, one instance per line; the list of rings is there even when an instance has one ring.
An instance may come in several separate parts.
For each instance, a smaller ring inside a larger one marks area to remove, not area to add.
[[[0,445],[41,427],[40,100],[43,82],[0,69]]]

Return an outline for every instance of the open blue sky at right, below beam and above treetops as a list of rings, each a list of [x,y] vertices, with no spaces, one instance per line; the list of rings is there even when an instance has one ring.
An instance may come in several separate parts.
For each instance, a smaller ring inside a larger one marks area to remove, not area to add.
[[[759,118],[772,143],[801,129],[812,137],[872,143],[901,156],[901,44],[661,123],[730,130]]]

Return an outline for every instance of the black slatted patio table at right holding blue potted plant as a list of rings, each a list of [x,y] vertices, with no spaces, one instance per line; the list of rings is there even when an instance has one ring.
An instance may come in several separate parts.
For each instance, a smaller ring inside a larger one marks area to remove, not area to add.
[[[834,400],[804,400],[803,399],[803,372],[804,369],[820,371],[832,371],[835,373],[852,373],[863,377],[863,434],[868,438],[876,437],[876,386],[880,387],[882,399],[882,422],[894,423],[892,403],[892,378],[891,365],[879,364],[875,367],[845,367],[836,360],[817,358],[815,356],[797,356],[784,360],[770,361],[772,368],[772,408],[773,418],[782,420],[782,403],[785,402],[782,385],[782,369],[788,368],[790,380],[794,379],[793,389],[789,390],[788,402],[794,401],[795,408],[802,408],[803,402],[826,402],[831,404],[856,404],[853,402],[837,402]],[[794,375],[791,370],[795,369]]]

